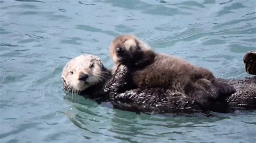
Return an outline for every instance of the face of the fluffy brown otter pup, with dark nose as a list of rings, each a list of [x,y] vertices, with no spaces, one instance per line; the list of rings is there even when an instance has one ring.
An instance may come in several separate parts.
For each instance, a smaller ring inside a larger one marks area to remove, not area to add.
[[[120,35],[110,45],[110,55],[114,63],[132,60],[138,50],[138,40],[133,35]]]

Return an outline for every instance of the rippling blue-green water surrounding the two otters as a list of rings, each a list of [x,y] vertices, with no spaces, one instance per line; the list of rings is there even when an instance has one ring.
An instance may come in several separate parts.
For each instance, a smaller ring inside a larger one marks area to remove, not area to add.
[[[145,115],[65,94],[80,54],[112,66],[108,47],[136,34],[161,53],[244,78],[256,51],[256,1],[0,1],[0,142],[255,142],[256,111]]]

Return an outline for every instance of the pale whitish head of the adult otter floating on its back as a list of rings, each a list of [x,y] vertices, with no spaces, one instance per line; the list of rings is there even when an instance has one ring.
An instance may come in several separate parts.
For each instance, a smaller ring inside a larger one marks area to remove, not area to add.
[[[105,79],[108,70],[95,55],[80,55],[70,60],[62,71],[63,88],[79,94]]]

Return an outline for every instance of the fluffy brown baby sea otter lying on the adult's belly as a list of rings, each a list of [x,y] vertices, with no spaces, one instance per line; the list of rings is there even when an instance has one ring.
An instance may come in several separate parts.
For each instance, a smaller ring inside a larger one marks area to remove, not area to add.
[[[155,53],[134,35],[120,35],[110,45],[114,68],[119,63],[130,68],[138,88],[165,88],[190,96],[204,108],[212,100],[231,95],[235,89],[215,80],[211,71],[170,55]]]

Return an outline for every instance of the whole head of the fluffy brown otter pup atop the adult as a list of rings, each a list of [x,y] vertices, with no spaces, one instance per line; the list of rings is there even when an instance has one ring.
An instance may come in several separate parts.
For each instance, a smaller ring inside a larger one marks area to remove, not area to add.
[[[134,35],[119,35],[110,45],[110,55],[114,61],[114,69],[118,63],[140,65],[152,60],[153,50]]]

